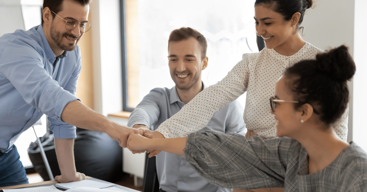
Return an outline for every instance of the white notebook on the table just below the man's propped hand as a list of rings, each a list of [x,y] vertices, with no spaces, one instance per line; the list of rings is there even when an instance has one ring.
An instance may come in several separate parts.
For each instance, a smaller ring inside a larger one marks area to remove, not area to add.
[[[91,188],[102,189],[102,188],[107,188],[111,186],[116,186],[116,184],[113,184],[107,181],[97,180],[94,178],[87,178],[81,181],[56,184],[56,187],[62,188],[62,189],[72,189],[72,188],[77,188],[77,187],[91,187]]]

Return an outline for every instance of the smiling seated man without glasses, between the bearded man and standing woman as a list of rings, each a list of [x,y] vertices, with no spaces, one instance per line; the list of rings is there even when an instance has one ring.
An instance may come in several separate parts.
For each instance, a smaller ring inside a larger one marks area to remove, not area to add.
[[[206,88],[201,81],[201,71],[208,65],[206,49],[205,37],[196,30],[173,30],[168,40],[168,66],[175,86],[151,90],[131,113],[128,126],[155,130]],[[239,102],[232,102],[214,113],[208,125],[200,131],[244,134],[242,115],[243,109]],[[183,156],[160,152],[156,158],[159,186],[163,192],[232,191],[207,182]]]

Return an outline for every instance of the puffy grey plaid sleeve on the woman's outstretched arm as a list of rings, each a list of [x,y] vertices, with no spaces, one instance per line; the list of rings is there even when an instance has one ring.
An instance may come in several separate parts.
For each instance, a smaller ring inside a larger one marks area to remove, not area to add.
[[[292,139],[249,140],[240,134],[214,131],[188,136],[185,157],[212,184],[227,188],[284,187]]]

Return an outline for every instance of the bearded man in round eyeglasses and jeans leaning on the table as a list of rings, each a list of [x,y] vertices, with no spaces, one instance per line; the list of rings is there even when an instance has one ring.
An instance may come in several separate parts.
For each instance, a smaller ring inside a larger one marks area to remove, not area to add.
[[[89,0],[44,0],[42,23],[0,37],[0,186],[28,183],[14,146],[43,114],[55,137],[59,182],[83,180],[76,172],[76,127],[107,133],[126,147],[130,133],[83,105],[75,96],[81,70],[77,42],[91,28]]]

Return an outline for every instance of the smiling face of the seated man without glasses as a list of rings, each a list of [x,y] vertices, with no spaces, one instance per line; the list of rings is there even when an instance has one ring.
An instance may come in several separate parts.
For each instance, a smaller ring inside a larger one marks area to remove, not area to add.
[[[176,88],[180,90],[201,88],[201,70],[207,65],[208,58],[201,59],[201,47],[194,37],[169,43],[168,66]]]

